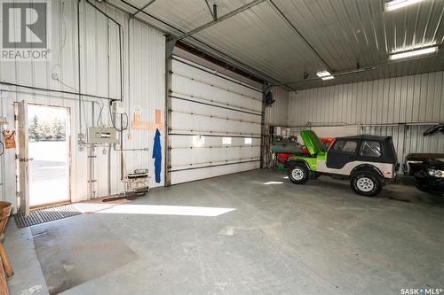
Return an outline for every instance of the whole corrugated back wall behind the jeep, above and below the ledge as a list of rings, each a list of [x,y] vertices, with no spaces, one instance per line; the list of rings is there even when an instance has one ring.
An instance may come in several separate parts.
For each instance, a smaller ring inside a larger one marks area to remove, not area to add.
[[[444,135],[423,136],[444,121],[443,82],[444,72],[436,72],[290,92],[288,125],[392,136],[400,162],[409,152],[444,152]]]

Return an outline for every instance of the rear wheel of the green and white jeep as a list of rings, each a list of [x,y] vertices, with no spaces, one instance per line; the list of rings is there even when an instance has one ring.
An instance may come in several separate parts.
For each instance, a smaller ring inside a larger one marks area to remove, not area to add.
[[[358,195],[374,197],[383,189],[383,182],[371,171],[358,171],[352,175],[350,186]]]

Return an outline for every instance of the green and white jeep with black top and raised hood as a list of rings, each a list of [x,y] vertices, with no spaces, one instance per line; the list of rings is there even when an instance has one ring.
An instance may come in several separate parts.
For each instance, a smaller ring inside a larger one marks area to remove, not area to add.
[[[312,130],[303,130],[300,135],[310,154],[289,157],[286,167],[293,183],[304,184],[310,175],[336,175],[350,179],[357,194],[373,197],[396,176],[399,165],[392,136],[337,137],[326,151]]]

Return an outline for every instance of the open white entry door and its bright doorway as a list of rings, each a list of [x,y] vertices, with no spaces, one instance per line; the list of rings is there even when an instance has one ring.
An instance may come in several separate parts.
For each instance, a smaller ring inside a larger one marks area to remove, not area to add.
[[[16,103],[15,126],[20,212],[69,202],[69,109]]]

